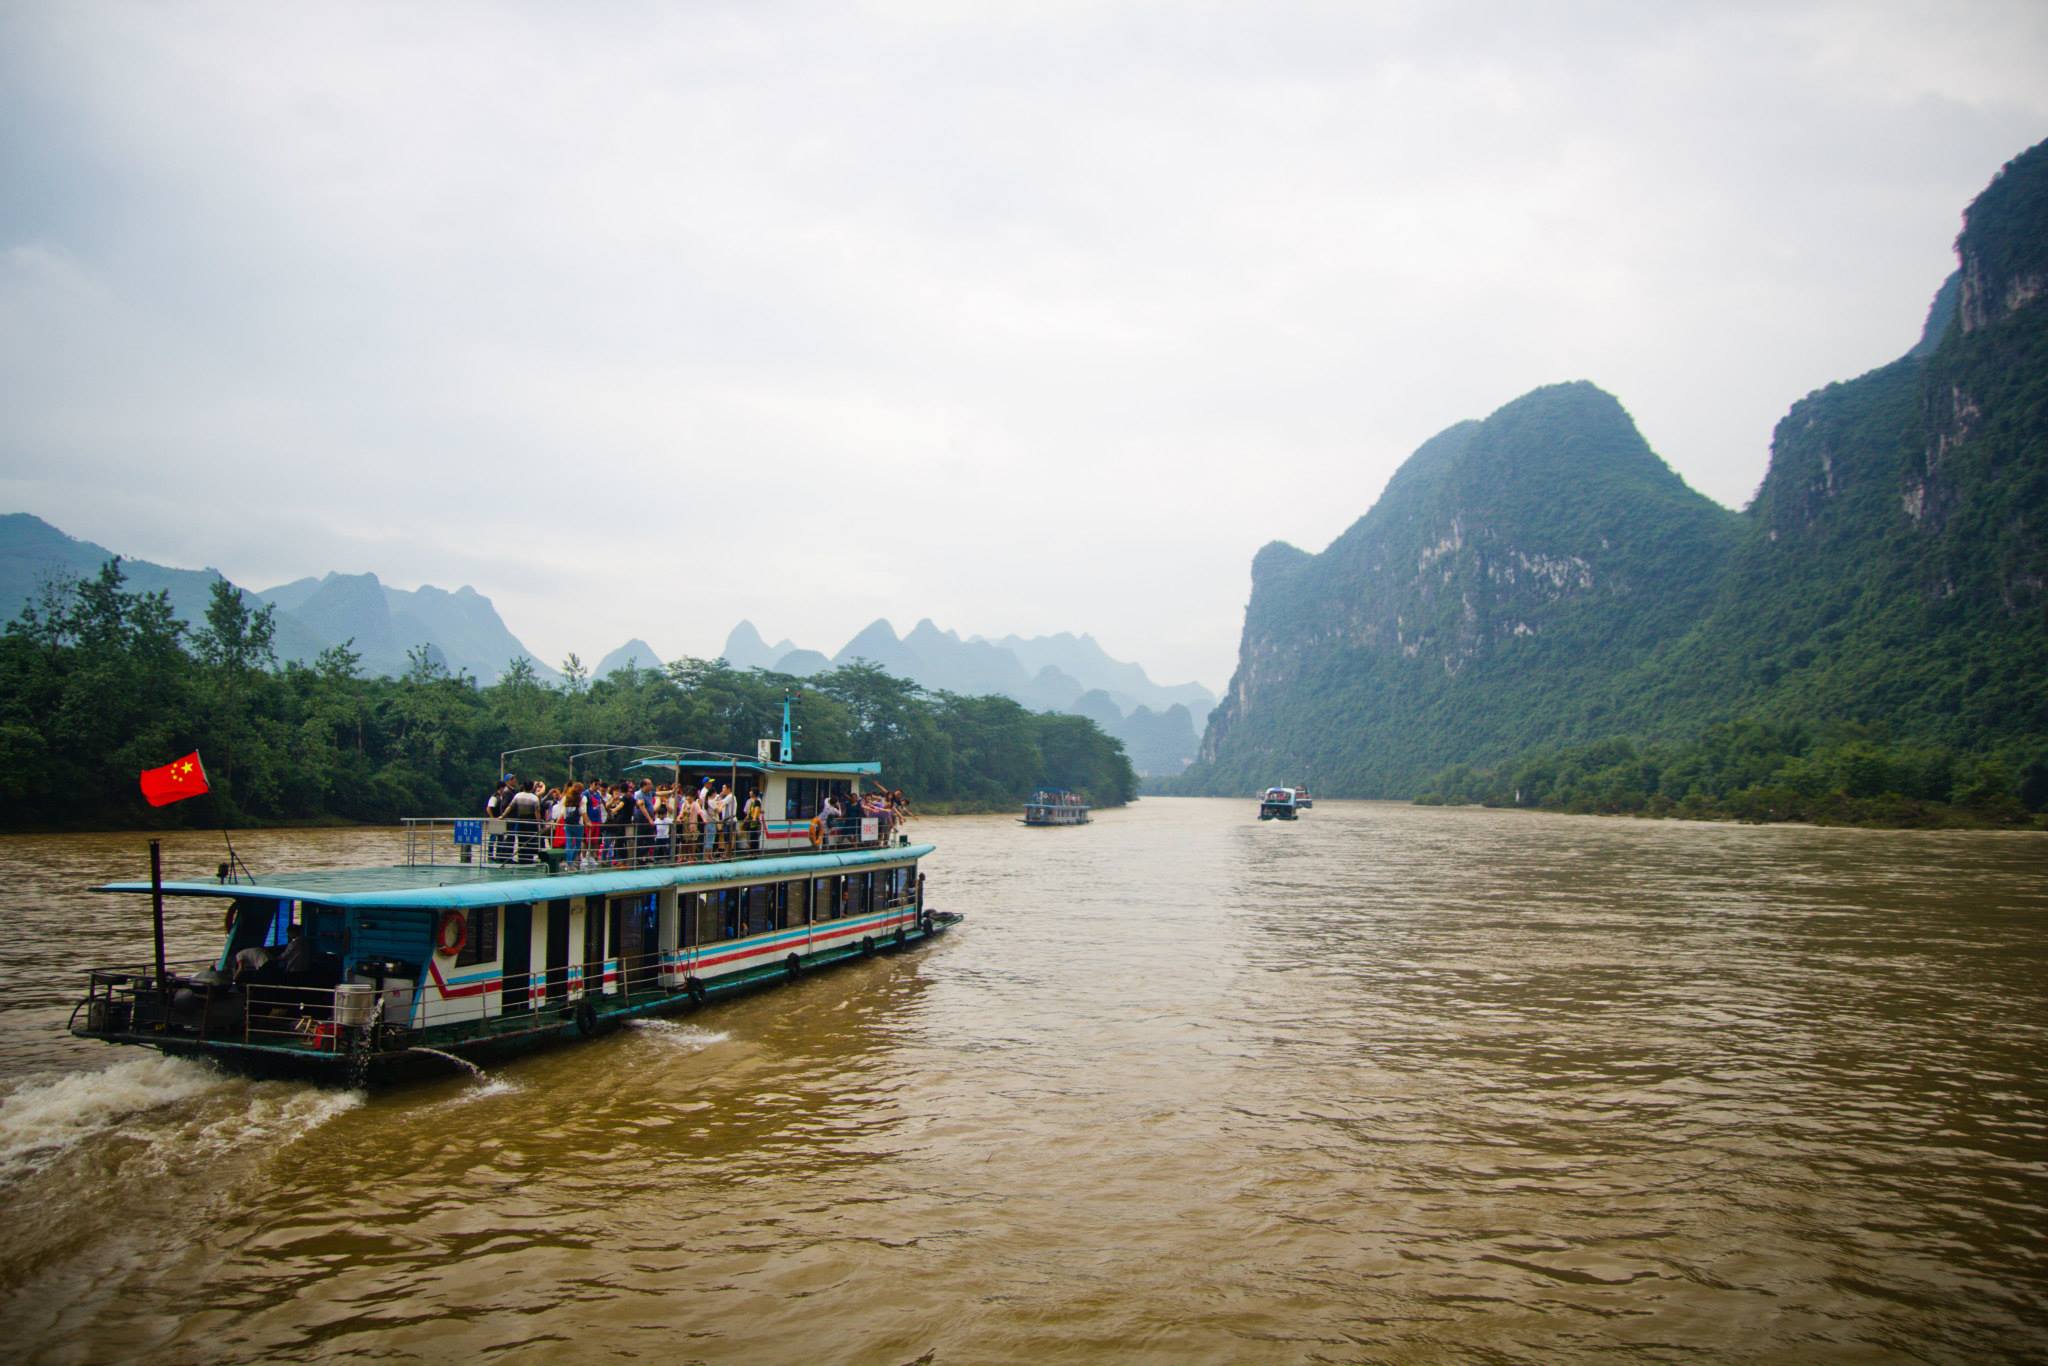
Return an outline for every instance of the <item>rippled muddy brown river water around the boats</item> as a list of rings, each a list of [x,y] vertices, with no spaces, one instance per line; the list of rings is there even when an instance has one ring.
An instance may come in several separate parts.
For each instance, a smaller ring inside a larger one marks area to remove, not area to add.
[[[946,938],[369,1098],[84,1044],[0,840],[25,1362],[2048,1360],[2048,840],[1151,799]],[[393,831],[238,840],[258,870]],[[217,838],[166,844],[209,877]],[[213,952],[180,911],[172,954]]]

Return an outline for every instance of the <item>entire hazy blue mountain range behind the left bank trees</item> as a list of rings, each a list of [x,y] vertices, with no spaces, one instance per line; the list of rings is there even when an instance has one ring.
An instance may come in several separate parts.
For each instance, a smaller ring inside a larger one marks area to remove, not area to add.
[[[90,578],[115,551],[68,537],[27,512],[0,516],[0,612],[12,621],[45,584]],[[121,559],[127,586],[162,590],[172,612],[188,627],[203,627],[219,569],[172,569],[145,559]],[[319,651],[348,643],[362,674],[397,676],[414,649],[451,672],[496,682],[512,659],[526,659],[537,678],[563,682],[557,668],[526,649],[492,600],[475,588],[455,592],[426,584],[391,588],[375,573],[328,573],[279,584],[262,592],[240,588],[250,606],[270,606],[276,621],[276,657],[311,664]],[[838,655],[797,649],[791,641],[768,645],[750,623],[733,627],[725,659],[735,668],[770,668],[811,676],[850,659],[870,659],[928,688],[965,694],[1012,696],[1032,711],[1065,711],[1104,723],[1124,741],[1139,772],[1180,772],[1196,750],[1196,727],[1214,707],[1198,684],[1161,688],[1137,664],[1112,659],[1087,635],[1049,635],[1001,641],[961,639],[930,621],[897,639],[887,621],[860,631]],[[631,639],[604,655],[592,678],[627,666],[662,668],[647,641]]]

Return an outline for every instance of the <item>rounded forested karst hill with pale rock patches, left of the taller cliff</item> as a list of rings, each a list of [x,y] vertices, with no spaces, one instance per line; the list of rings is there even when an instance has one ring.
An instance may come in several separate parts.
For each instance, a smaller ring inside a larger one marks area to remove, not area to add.
[[[1458,424],[1321,555],[1260,551],[1188,788],[1403,795],[1446,754],[1571,735],[1604,678],[1700,616],[1737,535],[1593,385]]]

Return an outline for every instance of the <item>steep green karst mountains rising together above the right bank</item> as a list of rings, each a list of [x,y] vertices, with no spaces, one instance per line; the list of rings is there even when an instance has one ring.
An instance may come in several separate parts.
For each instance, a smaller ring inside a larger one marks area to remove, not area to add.
[[[1726,721],[2048,743],[2048,143],[1970,205],[1896,362],[1778,424],[1757,498],[1694,494],[1589,383],[1421,449],[1323,553],[1251,563],[1184,791],[1413,795],[1454,764]]]

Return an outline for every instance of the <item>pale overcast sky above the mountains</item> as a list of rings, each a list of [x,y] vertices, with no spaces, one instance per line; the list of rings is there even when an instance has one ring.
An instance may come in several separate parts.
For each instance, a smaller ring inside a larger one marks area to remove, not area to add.
[[[0,6],[0,510],[547,659],[1092,631],[1614,393],[1755,492],[2048,135],[2048,6]]]

